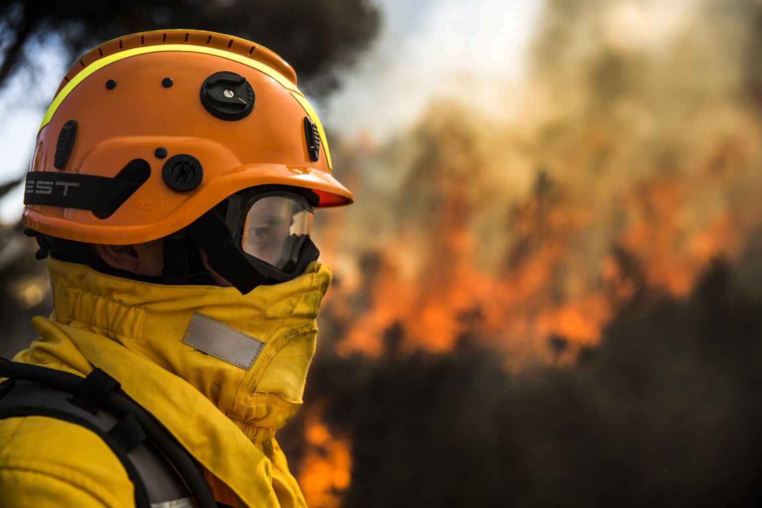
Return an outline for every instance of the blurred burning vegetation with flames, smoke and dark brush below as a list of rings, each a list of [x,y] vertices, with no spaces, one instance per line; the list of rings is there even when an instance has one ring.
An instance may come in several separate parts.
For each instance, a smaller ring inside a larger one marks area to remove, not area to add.
[[[306,401],[340,506],[758,497],[762,8],[730,3],[546,2],[511,111],[335,150]]]

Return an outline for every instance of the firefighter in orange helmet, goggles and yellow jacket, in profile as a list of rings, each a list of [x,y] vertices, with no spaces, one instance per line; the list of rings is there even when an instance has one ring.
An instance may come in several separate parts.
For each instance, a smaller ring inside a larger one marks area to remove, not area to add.
[[[75,62],[27,174],[54,311],[0,362],[0,506],[305,506],[274,436],[331,280],[313,212],[352,200],[271,50],[161,30]]]

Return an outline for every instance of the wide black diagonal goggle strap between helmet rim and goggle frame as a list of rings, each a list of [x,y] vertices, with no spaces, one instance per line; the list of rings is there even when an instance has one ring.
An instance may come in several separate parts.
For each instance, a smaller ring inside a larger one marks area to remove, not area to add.
[[[267,280],[267,276],[251,266],[235,241],[228,226],[215,209],[196,219],[188,234],[207,254],[207,264],[235,286],[242,295],[251,292]]]

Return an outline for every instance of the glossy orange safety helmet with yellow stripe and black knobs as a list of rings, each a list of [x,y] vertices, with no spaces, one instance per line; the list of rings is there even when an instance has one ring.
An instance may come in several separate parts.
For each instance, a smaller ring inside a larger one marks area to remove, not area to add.
[[[314,206],[353,200],[331,175],[325,132],[290,65],[238,37],[144,32],[101,44],[66,73],[37,135],[22,222],[134,244],[263,185],[312,191]]]

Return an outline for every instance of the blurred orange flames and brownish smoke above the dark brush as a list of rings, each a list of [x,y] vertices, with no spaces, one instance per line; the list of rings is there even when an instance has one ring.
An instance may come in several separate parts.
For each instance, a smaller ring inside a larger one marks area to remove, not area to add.
[[[514,366],[569,361],[639,286],[687,295],[760,223],[746,64],[707,50],[707,2],[571,3],[548,2],[510,116],[443,101],[387,145],[344,149],[362,188],[327,231],[364,261],[329,299],[341,355],[383,353],[396,327],[406,350],[469,335]]]

